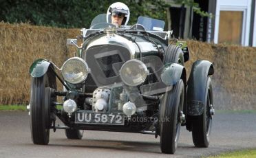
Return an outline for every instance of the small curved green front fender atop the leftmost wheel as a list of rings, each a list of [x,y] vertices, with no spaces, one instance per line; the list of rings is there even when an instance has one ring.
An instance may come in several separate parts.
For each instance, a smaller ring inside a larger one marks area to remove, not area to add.
[[[43,76],[51,63],[45,59],[35,60],[34,63],[30,66],[30,76],[33,78],[39,78]]]

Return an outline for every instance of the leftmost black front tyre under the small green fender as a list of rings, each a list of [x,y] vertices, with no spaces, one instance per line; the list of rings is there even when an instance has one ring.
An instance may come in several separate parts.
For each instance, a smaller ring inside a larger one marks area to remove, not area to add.
[[[51,88],[47,75],[32,78],[30,94],[30,130],[34,144],[49,142],[51,125]]]

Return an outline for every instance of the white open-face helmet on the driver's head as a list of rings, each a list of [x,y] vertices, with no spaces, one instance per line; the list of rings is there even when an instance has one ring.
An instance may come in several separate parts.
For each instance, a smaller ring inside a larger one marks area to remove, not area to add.
[[[127,5],[125,5],[125,3],[116,2],[109,6],[109,8],[107,9],[107,23],[111,23],[112,14],[124,14],[125,18],[122,20],[122,25],[127,25],[130,17],[130,10]]]

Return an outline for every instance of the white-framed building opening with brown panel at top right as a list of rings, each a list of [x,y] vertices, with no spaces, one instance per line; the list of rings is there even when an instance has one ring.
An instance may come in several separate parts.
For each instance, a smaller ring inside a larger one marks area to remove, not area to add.
[[[249,45],[252,0],[216,0],[214,43]]]

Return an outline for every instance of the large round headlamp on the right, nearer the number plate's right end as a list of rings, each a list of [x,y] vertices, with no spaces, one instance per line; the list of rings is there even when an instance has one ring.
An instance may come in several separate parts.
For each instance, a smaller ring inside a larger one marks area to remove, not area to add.
[[[147,66],[140,60],[128,60],[120,69],[122,82],[129,86],[142,84],[149,74]]]

